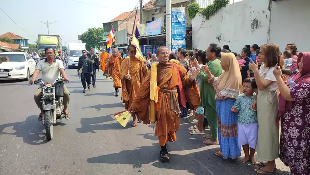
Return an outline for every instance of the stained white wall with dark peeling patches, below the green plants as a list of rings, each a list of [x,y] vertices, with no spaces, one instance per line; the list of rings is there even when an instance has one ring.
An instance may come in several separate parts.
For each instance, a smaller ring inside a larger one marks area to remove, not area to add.
[[[264,44],[268,38],[269,0],[243,0],[222,8],[206,20],[197,15],[192,20],[193,47],[207,49],[210,43],[229,45],[240,53],[244,45]]]

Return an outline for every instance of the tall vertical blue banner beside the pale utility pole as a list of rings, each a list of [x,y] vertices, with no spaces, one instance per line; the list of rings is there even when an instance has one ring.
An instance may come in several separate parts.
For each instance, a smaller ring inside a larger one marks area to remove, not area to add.
[[[184,7],[172,7],[172,50],[186,49],[186,18]]]

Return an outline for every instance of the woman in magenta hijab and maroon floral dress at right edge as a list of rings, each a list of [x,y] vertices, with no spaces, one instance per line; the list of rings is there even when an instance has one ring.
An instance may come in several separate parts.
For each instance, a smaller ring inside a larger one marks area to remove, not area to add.
[[[290,174],[310,174],[310,52],[299,53],[297,63],[301,71],[292,78],[293,87],[285,84],[279,67],[273,70],[281,93],[280,159],[290,167]]]

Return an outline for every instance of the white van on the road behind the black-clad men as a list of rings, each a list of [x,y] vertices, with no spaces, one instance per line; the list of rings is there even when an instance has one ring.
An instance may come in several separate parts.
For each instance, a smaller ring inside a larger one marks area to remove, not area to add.
[[[69,43],[68,44],[68,68],[77,67],[79,57],[81,57],[82,50],[86,50],[86,45],[84,43]]]

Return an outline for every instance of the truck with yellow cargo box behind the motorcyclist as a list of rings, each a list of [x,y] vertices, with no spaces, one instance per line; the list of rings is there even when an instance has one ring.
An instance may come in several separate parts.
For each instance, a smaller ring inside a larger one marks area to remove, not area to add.
[[[38,54],[45,50],[46,47],[53,47],[56,51],[55,56],[58,56],[58,50],[62,50],[62,39],[59,35],[46,35],[46,34],[38,34]]]

